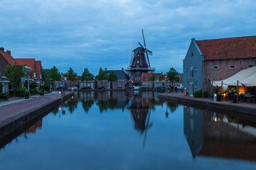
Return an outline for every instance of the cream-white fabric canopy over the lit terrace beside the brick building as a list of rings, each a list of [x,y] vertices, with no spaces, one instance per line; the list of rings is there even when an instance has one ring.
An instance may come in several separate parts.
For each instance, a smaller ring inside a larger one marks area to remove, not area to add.
[[[223,89],[228,89],[228,86],[256,86],[256,67],[250,67],[248,69],[242,69],[237,74],[234,74],[228,79],[220,81],[211,81],[213,86],[221,86],[223,82]]]

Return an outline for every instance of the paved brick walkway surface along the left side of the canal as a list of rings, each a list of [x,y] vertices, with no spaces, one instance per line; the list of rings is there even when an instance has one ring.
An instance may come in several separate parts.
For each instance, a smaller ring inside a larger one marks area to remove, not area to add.
[[[68,94],[70,92],[66,92]],[[18,99],[0,103],[0,122],[7,120],[15,115],[22,114],[33,108],[43,106],[58,99],[58,91],[45,96],[30,96],[29,99]]]

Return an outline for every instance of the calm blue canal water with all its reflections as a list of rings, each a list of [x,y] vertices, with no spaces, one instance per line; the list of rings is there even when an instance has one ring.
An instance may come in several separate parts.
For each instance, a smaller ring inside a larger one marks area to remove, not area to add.
[[[256,169],[255,118],[157,95],[75,94],[1,145],[0,169]]]

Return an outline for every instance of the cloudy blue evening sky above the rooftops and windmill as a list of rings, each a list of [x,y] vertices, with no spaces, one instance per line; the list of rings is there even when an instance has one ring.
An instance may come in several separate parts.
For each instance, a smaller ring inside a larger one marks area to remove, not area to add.
[[[0,47],[44,69],[126,69],[143,42],[151,67],[183,72],[191,38],[256,35],[254,0],[1,0]]]

